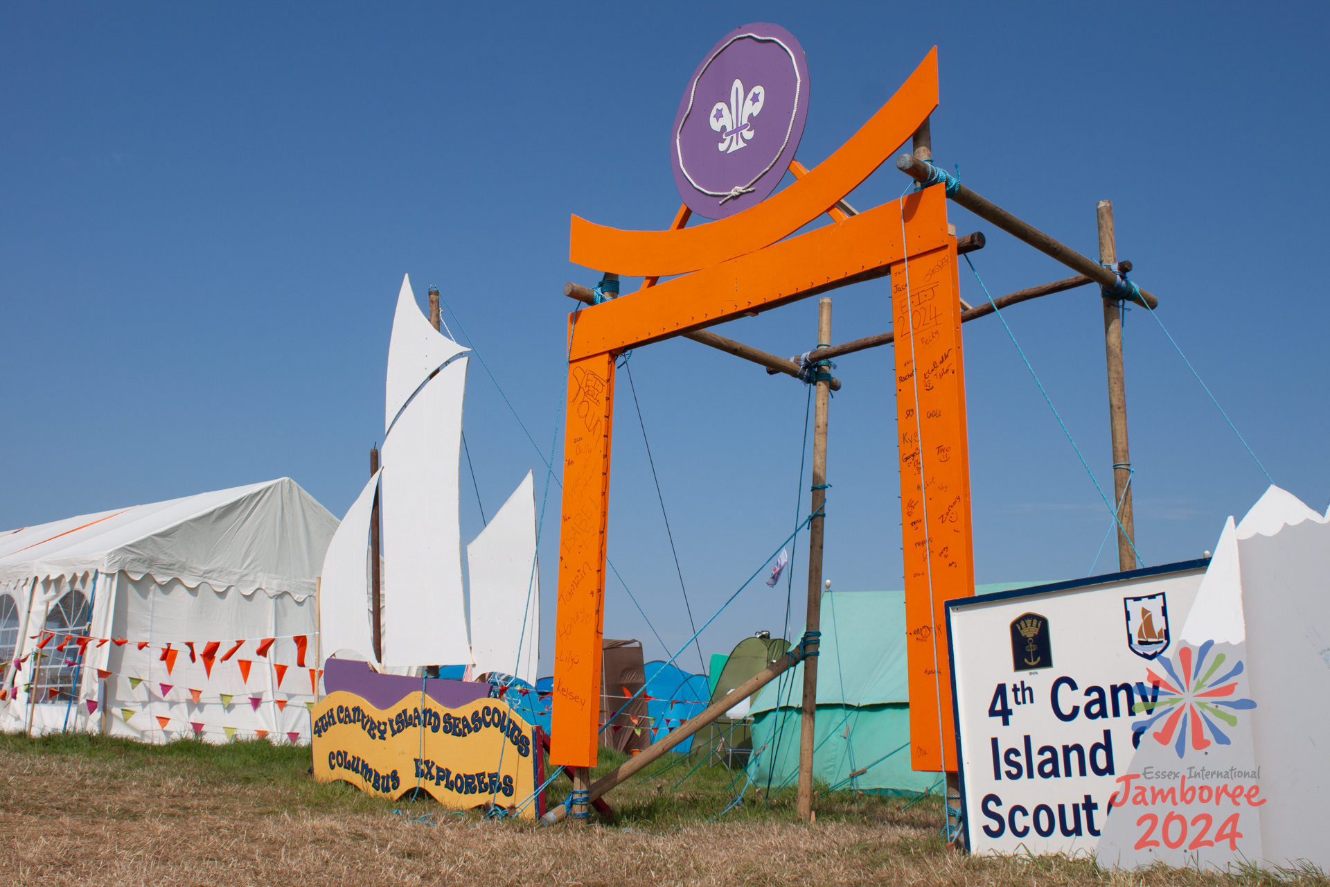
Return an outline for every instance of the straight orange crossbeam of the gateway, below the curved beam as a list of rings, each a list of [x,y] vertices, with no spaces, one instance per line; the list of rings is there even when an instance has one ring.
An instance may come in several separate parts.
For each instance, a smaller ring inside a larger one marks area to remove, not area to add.
[[[955,242],[947,234],[943,189],[927,188],[902,201],[911,255]],[[899,262],[903,257],[902,201],[875,206],[757,253],[583,309],[572,358],[668,339],[741,317],[757,307],[790,302],[813,287]]]

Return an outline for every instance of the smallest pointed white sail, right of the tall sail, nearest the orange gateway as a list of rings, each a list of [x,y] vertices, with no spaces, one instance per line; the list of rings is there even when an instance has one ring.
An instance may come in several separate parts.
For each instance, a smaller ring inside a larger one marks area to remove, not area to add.
[[[540,658],[540,567],[532,475],[467,545],[471,650],[476,672],[512,674],[535,686]]]

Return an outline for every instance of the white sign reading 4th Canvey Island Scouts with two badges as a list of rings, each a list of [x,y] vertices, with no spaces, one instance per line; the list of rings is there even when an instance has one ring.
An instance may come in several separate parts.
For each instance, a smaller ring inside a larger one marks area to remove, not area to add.
[[[972,851],[1095,848],[1140,745],[1132,725],[1149,717],[1137,707],[1168,698],[1150,670],[1177,645],[1206,564],[948,605]]]

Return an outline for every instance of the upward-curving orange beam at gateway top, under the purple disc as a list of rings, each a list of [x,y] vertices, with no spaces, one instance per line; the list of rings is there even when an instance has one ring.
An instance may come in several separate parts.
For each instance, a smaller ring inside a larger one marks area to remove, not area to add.
[[[803,178],[729,218],[670,231],[624,231],[573,215],[568,258],[628,277],[686,274],[775,243],[858,188],[938,106],[934,47],[886,105]]]

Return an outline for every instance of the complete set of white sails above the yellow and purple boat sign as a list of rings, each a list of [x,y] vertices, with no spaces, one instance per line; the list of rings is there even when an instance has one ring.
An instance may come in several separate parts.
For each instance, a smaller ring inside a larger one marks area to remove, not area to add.
[[[383,459],[323,564],[323,649],[386,672],[468,665],[535,684],[539,657],[536,504],[531,473],[468,545],[471,632],[462,577],[459,476],[467,351],[420,313],[403,277],[388,344]],[[372,642],[370,555],[380,496],[382,661]]]

